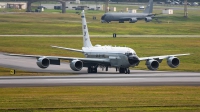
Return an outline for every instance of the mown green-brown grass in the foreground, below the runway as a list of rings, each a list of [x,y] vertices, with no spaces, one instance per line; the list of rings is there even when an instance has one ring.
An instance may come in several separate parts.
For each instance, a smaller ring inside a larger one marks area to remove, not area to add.
[[[0,111],[199,111],[199,87],[0,88]]]

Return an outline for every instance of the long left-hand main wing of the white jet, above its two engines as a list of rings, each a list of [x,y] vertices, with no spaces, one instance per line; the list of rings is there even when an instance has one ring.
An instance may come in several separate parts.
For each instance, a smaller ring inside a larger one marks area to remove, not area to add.
[[[78,57],[62,57],[62,56],[41,56],[41,55],[24,55],[24,54],[4,54],[8,56],[19,56],[19,57],[31,57],[31,58],[47,58],[47,59],[62,59],[62,60],[81,60],[83,62],[97,62],[97,63],[109,63],[109,59],[98,59],[98,58],[78,58]]]

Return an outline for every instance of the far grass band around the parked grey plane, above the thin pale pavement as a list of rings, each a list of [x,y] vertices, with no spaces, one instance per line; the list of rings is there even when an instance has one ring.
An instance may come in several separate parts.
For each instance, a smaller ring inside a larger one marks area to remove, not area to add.
[[[49,12],[48,12],[49,11]],[[57,10],[47,10],[44,13],[0,13],[0,34],[43,34],[43,35],[81,35],[82,26],[79,14],[68,10],[66,14],[50,13]],[[79,11],[78,11],[79,12]],[[86,11],[88,28],[92,35],[199,35],[200,15],[190,11],[190,16],[183,18],[182,11],[174,15],[162,15],[161,23],[154,19],[146,23],[144,20],[135,24],[128,22],[119,24],[100,22],[103,11]],[[93,20],[96,16],[97,20]]]

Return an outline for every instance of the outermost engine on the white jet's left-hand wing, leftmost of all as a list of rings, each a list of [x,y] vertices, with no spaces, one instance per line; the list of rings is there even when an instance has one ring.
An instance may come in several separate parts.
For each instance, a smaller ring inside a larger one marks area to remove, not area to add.
[[[50,60],[42,57],[39,58],[36,63],[40,68],[47,68],[50,64]]]

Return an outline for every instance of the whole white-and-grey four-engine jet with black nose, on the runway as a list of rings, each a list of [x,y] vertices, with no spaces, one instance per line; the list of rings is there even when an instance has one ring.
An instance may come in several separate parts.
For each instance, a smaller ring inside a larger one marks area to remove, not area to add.
[[[97,68],[108,67],[116,68],[119,73],[129,74],[129,67],[138,66],[140,61],[146,61],[146,66],[149,70],[157,70],[159,63],[163,59],[167,59],[167,64],[176,68],[179,65],[179,59],[177,56],[185,56],[190,54],[175,54],[175,55],[164,55],[164,56],[151,56],[139,58],[136,52],[128,47],[112,47],[112,46],[93,46],[88,32],[86,18],[84,10],[82,11],[82,30],[83,30],[83,47],[81,49],[72,49],[65,47],[52,46],[54,48],[81,52],[86,58],[78,57],[61,57],[61,56],[40,56],[40,55],[23,55],[23,54],[6,54],[9,56],[22,56],[22,57],[35,57],[37,58],[37,65],[40,68],[47,68],[49,65],[60,65],[60,60],[69,60],[70,67],[74,71],[80,71],[83,67],[88,68],[88,73],[97,73]]]

